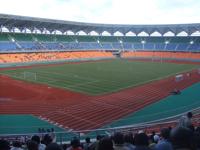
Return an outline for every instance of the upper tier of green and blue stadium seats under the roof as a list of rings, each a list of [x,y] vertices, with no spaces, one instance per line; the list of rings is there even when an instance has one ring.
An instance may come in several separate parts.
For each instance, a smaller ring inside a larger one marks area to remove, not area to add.
[[[166,41],[168,41],[166,43]],[[191,43],[192,41],[192,43]],[[150,50],[200,52],[200,37],[126,37],[0,33],[0,52],[21,50]]]

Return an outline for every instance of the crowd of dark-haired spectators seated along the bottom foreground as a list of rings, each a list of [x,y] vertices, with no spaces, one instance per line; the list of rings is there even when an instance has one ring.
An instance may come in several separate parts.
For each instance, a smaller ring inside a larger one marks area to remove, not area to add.
[[[87,137],[81,143],[74,137],[70,144],[59,145],[53,142],[50,134],[42,138],[34,135],[24,145],[1,139],[0,150],[200,150],[200,127],[195,128],[191,118],[189,112],[180,118],[176,127],[163,128],[159,133],[115,132],[111,136],[98,135],[94,142]]]

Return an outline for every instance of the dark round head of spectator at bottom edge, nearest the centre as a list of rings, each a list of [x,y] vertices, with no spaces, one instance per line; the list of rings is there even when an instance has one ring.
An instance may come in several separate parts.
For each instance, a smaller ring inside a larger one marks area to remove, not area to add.
[[[114,150],[112,140],[109,137],[101,139],[97,150]]]

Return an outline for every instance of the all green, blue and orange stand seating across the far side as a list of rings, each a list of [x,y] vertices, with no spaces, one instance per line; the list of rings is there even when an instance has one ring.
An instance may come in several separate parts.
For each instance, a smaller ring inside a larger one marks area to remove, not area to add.
[[[85,54],[88,54],[88,58],[89,56],[92,58],[103,56],[113,57],[112,53],[106,53],[106,55],[105,53],[102,53],[102,55],[97,53],[99,50],[125,51],[122,57],[189,58],[197,60],[200,59],[200,37],[128,37],[0,33],[0,63],[78,59],[86,58]],[[84,51],[86,53],[72,53],[73,51]],[[30,52],[31,54],[25,54],[25,52]],[[48,52],[48,54],[42,52]]]

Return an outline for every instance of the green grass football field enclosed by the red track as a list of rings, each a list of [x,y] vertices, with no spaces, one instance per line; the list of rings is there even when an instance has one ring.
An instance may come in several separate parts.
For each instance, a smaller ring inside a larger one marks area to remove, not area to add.
[[[90,95],[116,92],[199,68],[198,65],[110,60],[6,70],[13,78]]]

